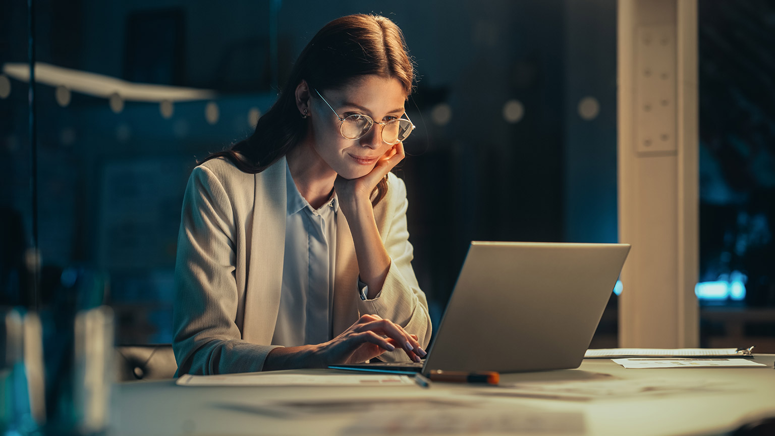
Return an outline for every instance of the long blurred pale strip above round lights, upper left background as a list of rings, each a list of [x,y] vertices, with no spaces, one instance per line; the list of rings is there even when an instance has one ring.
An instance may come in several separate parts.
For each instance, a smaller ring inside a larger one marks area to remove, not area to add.
[[[4,64],[2,69],[12,78],[29,81],[29,64],[9,62]],[[103,74],[57,67],[43,62],[35,64],[35,81],[50,86],[64,85],[71,91],[103,99],[119,94],[124,100],[133,102],[161,102],[162,100],[183,102],[212,99],[215,96],[215,92],[210,89],[133,83]],[[0,79],[0,95],[2,95],[2,79]]]

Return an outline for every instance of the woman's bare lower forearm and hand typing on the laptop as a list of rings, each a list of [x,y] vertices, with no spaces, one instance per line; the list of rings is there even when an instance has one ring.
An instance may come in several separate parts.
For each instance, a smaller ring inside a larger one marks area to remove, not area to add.
[[[414,362],[420,362],[420,358],[427,354],[417,336],[408,334],[403,327],[377,315],[363,315],[331,341],[274,348],[264,361],[263,371],[326,368],[329,365],[366,362],[396,348],[403,349]]]

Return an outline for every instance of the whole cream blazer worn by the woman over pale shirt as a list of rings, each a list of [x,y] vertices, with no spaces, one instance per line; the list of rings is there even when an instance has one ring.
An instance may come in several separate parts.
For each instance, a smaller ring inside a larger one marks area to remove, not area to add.
[[[188,179],[177,239],[173,348],[178,374],[256,372],[271,345],[283,275],[285,158],[258,174],[218,157]],[[412,269],[406,227],[406,188],[392,173],[374,219],[391,266],[377,299],[362,300],[353,237],[337,217],[336,275],[331,337],[364,313],[416,334],[423,348],[431,334],[428,303]],[[408,360],[398,349],[381,356]]]

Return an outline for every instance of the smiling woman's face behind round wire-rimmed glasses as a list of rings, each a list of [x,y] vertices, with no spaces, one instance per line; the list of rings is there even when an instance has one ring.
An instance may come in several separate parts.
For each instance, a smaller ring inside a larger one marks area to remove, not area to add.
[[[315,152],[343,178],[369,174],[377,161],[393,147],[382,140],[382,126],[404,113],[406,94],[401,81],[377,75],[358,78],[341,89],[318,90],[342,118],[362,114],[374,119],[374,126],[357,140],[339,133],[340,122],[334,112],[310,89],[310,134]]]

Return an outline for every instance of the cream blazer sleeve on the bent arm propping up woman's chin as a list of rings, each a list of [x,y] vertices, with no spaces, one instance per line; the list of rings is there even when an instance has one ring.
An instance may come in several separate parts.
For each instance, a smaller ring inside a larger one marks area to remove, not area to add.
[[[391,258],[382,289],[375,299],[358,299],[361,314],[370,313],[387,318],[404,327],[410,334],[416,334],[418,342],[425,348],[431,337],[431,319],[428,314],[428,302],[422,292],[412,268],[414,258],[412,244],[409,243],[409,231],[406,224],[406,185],[398,177],[391,177],[388,195],[391,206],[387,210],[387,233],[382,235],[385,250]],[[392,191],[392,192],[391,192]],[[360,293],[360,292],[359,292]],[[404,351],[386,352],[380,356],[384,361],[407,360]]]

